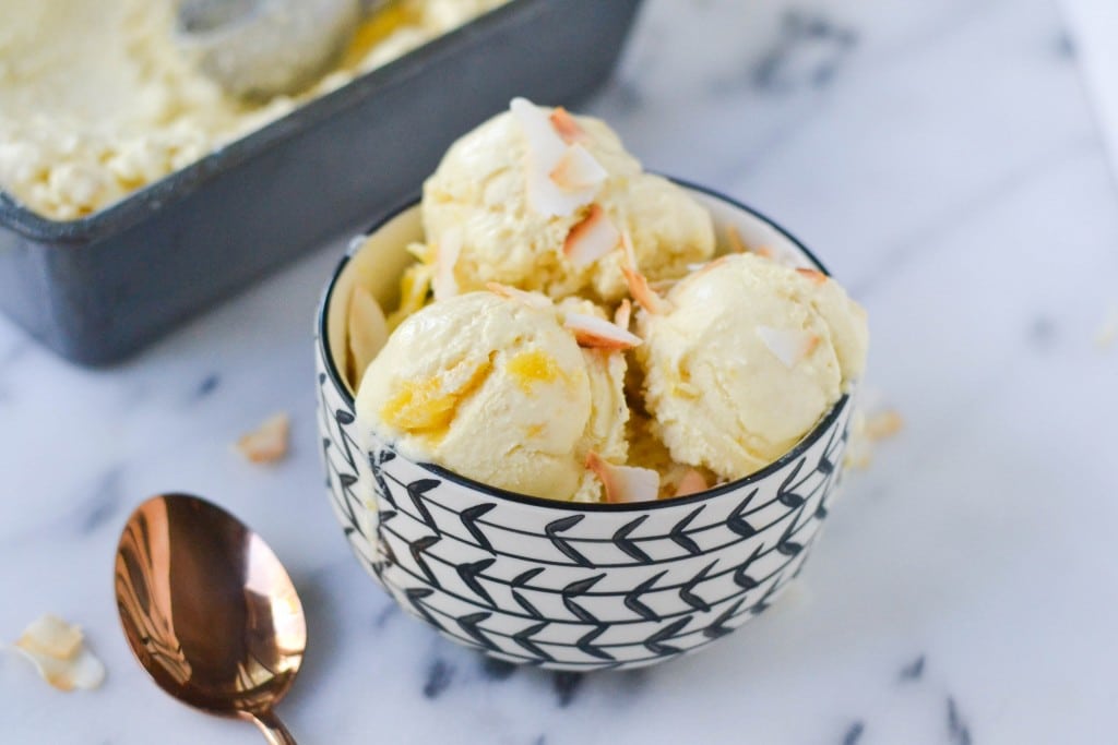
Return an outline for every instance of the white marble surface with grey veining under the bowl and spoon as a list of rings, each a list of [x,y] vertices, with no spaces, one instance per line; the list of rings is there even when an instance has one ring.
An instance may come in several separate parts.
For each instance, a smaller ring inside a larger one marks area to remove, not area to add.
[[[0,639],[44,611],[108,666],[63,695],[0,655],[0,741],[248,743],[132,661],[112,552],[145,495],[210,496],[287,563],[304,743],[1100,743],[1118,701],[1118,209],[1050,0],[650,0],[588,108],[653,168],[786,225],[870,309],[904,416],[799,586],[711,651],[632,675],[485,665],[390,605],[330,515],[311,317],[340,243],[129,364],[0,322]],[[275,410],[293,457],[228,450]]]

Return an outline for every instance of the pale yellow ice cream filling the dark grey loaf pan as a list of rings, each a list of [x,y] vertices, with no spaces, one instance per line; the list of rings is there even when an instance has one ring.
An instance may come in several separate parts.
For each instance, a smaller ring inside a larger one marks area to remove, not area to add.
[[[173,0],[0,0],[0,189],[94,212],[504,0],[404,0],[297,97],[226,96],[173,41]]]

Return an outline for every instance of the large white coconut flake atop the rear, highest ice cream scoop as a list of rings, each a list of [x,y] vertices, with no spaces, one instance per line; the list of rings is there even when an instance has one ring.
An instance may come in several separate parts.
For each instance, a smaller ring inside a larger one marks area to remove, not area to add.
[[[591,202],[598,185],[566,190],[552,181],[551,173],[566,156],[568,146],[543,109],[527,98],[513,98],[509,108],[528,143],[524,172],[531,209],[544,217],[569,217]]]

